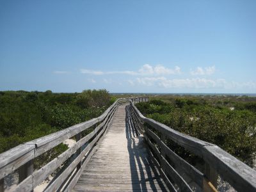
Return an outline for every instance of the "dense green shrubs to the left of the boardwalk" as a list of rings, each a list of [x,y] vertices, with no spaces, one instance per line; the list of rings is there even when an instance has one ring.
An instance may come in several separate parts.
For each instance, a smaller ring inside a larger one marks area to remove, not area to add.
[[[114,101],[106,90],[0,92],[0,153],[99,116]],[[65,149],[58,146],[52,157]]]

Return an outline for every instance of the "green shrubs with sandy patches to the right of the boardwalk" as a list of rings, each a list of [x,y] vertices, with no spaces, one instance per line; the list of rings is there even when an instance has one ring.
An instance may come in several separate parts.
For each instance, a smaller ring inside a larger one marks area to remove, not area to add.
[[[148,118],[214,143],[253,166],[256,153],[256,98],[169,96],[141,102],[136,106]]]

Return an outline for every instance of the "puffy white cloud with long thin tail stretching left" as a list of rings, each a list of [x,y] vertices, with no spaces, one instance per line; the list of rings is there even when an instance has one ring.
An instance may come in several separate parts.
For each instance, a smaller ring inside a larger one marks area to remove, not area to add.
[[[145,64],[138,71],[132,70],[124,70],[124,71],[99,71],[99,70],[88,70],[81,69],[81,73],[83,74],[92,74],[92,75],[105,75],[105,74],[127,74],[131,76],[159,76],[159,75],[167,75],[167,74],[180,74],[180,67],[166,68],[163,65],[156,65],[153,67],[151,65]]]

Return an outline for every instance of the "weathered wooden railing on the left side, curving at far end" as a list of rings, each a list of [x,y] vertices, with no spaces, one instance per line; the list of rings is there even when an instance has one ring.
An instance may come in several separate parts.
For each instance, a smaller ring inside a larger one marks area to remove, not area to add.
[[[102,115],[87,122],[68,127],[53,134],[38,138],[0,154],[0,191],[4,191],[4,177],[13,172],[19,173],[19,184],[11,191],[33,191],[49,175],[61,169],[44,191],[70,191],[79,179],[81,172],[97,150],[99,143],[111,119],[120,104],[129,103],[129,100],[140,102],[141,97],[118,99]],[[92,128],[93,131],[84,136],[83,132]],[[33,161],[45,152],[49,152],[68,138],[76,138],[76,143],[65,150],[42,168],[34,170]],[[67,161],[69,163],[67,164]],[[5,190],[6,191],[6,190]],[[7,189],[8,191],[8,189]],[[10,189],[9,189],[10,191]]]

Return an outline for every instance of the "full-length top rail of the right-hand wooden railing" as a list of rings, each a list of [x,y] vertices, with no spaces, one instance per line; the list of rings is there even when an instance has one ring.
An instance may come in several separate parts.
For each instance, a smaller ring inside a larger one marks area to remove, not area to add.
[[[182,134],[164,124],[146,118],[134,106],[134,103],[130,102],[130,105],[142,122],[149,124],[178,145],[202,157],[206,163],[212,166],[212,168],[215,168],[216,172],[223,179],[227,180],[237,191],[256,191],[256,171],[236,159],[236,157],[231,156],[212,143]]]

